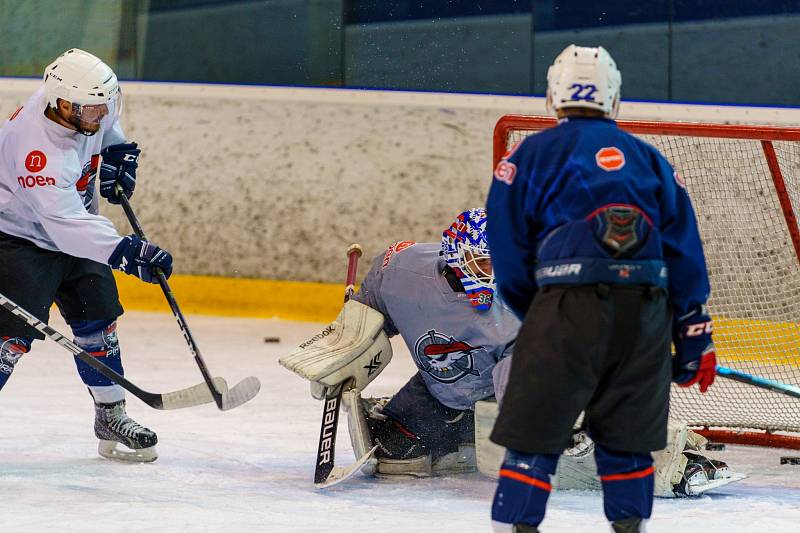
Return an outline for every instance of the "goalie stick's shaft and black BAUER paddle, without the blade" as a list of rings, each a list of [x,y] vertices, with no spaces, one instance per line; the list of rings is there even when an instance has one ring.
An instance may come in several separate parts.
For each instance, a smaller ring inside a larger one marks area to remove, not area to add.
[[[355,292],[356,272],[358,271],[358,258],[361,257],[361,246],[351,244],[347,249],[347,281],[344,289],[345,303]],[[319,446],[317,447],[317,466],[314,470],[314,485],[325,487],[330,483],[329,478],[333,471],[334,455],[336,448],[336,428],[339,424],[339,407],[342,404],[342,392],[347,385],[340,383],[335,388],[325,391],[325,403],[322,408],[322,426],[319,430]]]

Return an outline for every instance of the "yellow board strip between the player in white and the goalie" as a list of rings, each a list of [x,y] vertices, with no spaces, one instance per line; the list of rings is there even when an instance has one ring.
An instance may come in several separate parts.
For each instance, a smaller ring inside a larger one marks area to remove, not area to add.
[[[169,313],[161,287],[114,272],[120,301],[131,311]],[[344,286],[332,283],[174,275],[169,285],[186,314],[332,322]]]

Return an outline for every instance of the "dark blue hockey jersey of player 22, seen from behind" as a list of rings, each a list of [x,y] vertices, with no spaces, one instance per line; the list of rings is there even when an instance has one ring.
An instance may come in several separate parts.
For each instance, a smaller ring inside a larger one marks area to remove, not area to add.
[[[685,184],[613,120],[570,117],[524,139],[498,164],[486,209],[497,287],[520,318],[547,283],[661,285],[675,316],[708,299]]]

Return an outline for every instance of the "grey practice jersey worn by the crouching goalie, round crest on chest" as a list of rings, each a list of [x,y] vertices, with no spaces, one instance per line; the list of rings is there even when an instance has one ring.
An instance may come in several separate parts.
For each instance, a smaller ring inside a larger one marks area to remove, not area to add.
[[[438,243],[398,242],[375,258],[355,300],[380,311],[387,335],[403,337],[431,394],[472,409],[494,394],[492,370],[513,349],[520,322],[495,298],[487,311],[455,292]]]

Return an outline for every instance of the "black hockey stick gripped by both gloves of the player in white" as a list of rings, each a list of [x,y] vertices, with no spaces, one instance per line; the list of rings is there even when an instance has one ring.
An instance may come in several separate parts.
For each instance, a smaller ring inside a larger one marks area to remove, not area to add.
[[[136,218],[136,214],[133,212],[133,208],[131,208],[128,197],[122,194],[119,186],[117,186],[117,197],[122,203],[122,209],[125,210],[125,215],[128,217],[128,221],[130,221],[133,231],[140,239],[147,240],[144,235],[142,225],[139,224],[139,219]],[[203,380],[205,380],[208,390],[211,393],[212,398],[214,398],[214,402],[217,404],[217,407],[221,411],[227,411],[252,400],[261,389],[261,382],[259,382],[258,378],[256,377],[250,376],[244,378],[228,391],[220,391],[214,387],[214,382],[211,380],[211,374],[208,372],[206,363],[203,361],[203,357],[200,355],[200,349],[197,347],[197,343],[194,341],[194,336],[189,330],[189,324],[186,323],[186,319],[183,317],[183,313],[178,307],[178,301],[175,299],[175,295],[172,293],[172,289],[170,289],[169,284],[167,283],[166,276],[164,276],[164,273],[158,269],[156,269],[156,275],[158,276],[158,284],[161,285],[161,290],[164,292],[164,296],[167,298],[169,307],[172,309],[172,314],[175,315],[175,319],[178,321],[178,327],[181,328],[183,337],[186,339],[186,343],[189,345],[189,351],[192,352],[194,360],[197,363],[197,366],[200,368],[200,373],[203,375]]]

